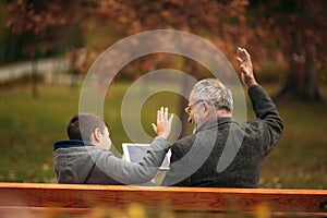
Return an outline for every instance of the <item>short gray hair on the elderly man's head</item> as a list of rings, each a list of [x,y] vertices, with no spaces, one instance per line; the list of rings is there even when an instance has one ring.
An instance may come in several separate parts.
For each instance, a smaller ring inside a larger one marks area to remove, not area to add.
[[[229,112],[233,110],[232,93],[218,78],[205,78],[197,82],[192,89],[192,95],[195,102],[204,100],[216,110]]]

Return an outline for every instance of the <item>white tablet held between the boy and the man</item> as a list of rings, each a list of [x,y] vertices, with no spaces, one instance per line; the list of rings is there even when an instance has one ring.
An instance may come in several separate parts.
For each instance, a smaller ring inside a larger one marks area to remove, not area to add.
[[[122,149],[125,156],[125,160],[130,162],[138,162],[145,156],[146,152],[149,149],[150,144],[136,144],[136,143],[123,143]],[[159,170],[169,170],[171,152],[168,150],[162,165]]]

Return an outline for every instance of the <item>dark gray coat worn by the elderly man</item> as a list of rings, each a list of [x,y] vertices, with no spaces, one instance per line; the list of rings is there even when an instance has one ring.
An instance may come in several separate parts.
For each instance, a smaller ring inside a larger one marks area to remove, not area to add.
[[[170,171],[162,185],[257,187],[265,157],[278,142],[283,124],[261,86],[249,89],[256,119],[237,123],[215,119],[171,148]]]

